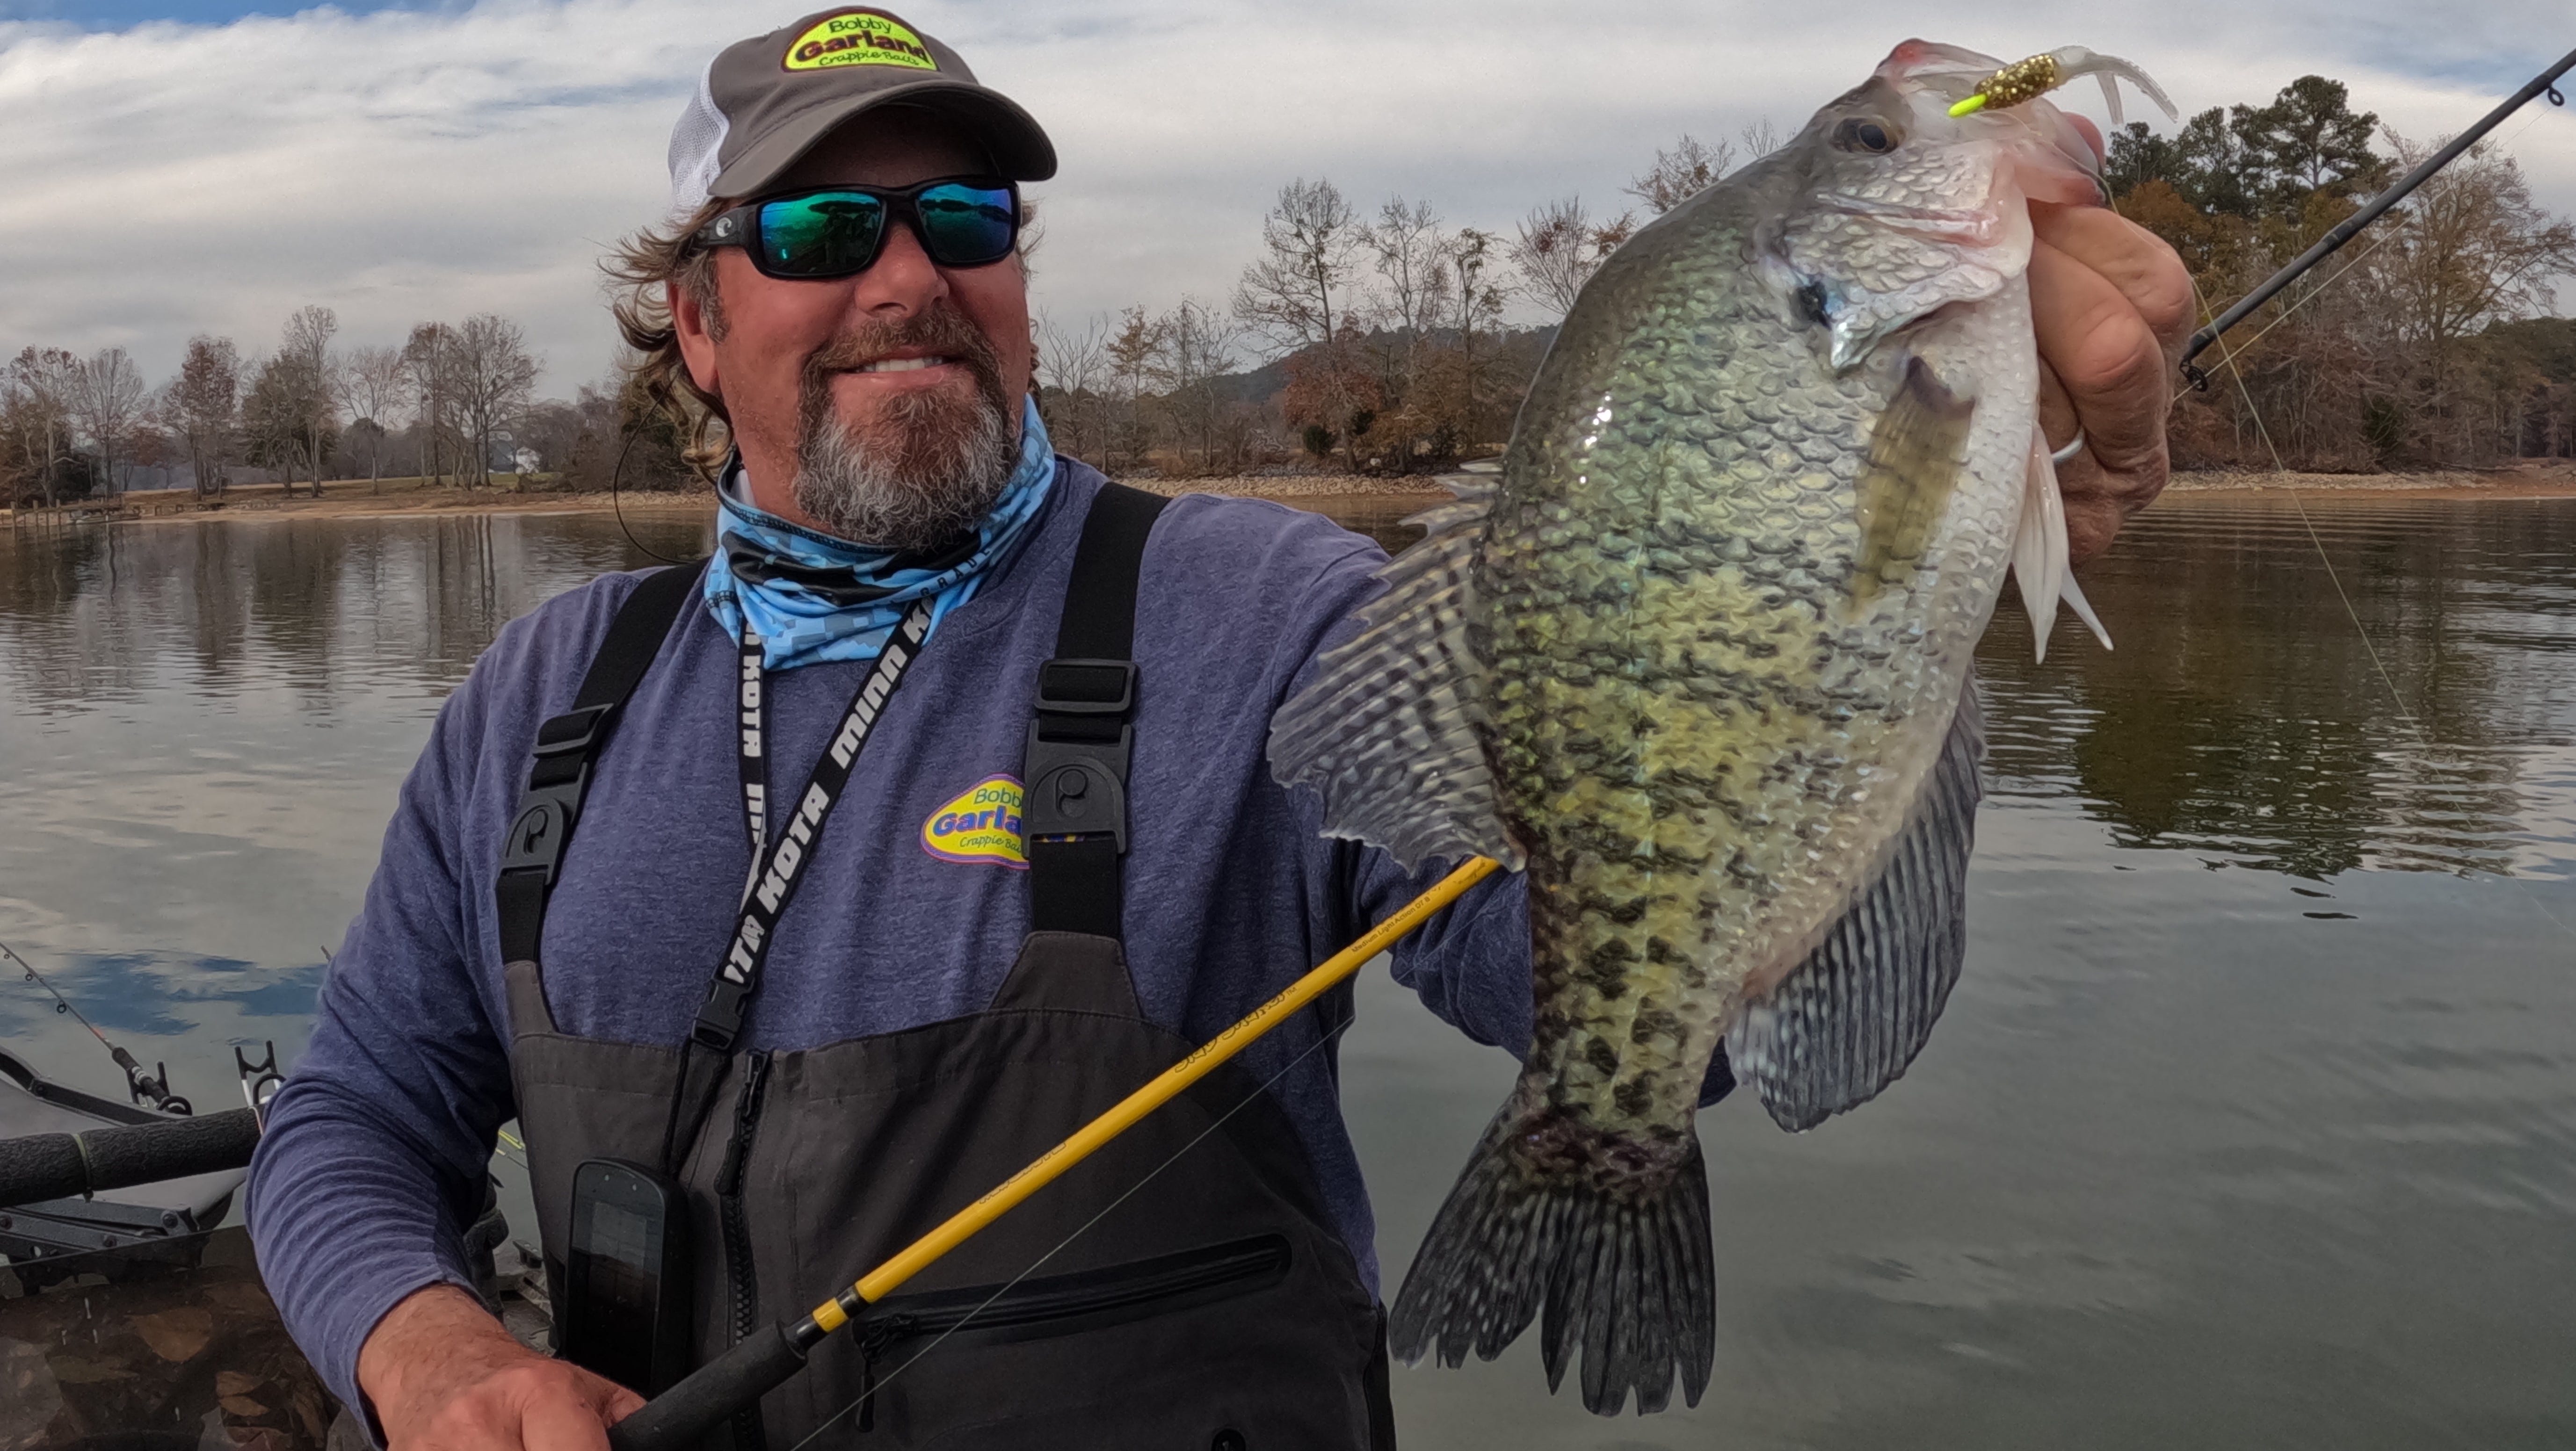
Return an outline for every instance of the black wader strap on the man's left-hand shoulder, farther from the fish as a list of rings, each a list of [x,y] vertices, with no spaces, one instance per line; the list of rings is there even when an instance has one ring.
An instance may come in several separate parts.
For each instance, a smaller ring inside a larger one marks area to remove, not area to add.
[[[590,789],[590,763],[608,742],[618,706],[634,693],[662,637],[677,624],[683,606],[698,595],[698,564],[675,564],[644,575],[616,619],[600,649],[590,657],[590,673],[572,696],[572,709],[536,727],[536,765],[528,768],[528,791],[510,817],[510,835],[500,848],[500,879],[492,887],[495,920],[500,925],[500,959],[536,961],[536,943],[546,936],[546,897],[554,892],[572,827],[582,817],[582,794]]]

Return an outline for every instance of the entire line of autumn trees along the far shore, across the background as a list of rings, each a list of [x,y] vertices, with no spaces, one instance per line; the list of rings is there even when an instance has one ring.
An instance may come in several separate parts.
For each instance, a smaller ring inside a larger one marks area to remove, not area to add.
[[[1450,227],[1427,201],[1363,206],[1298,178],[1221,299],[1036,325],[1056,446],[1113,474],[1262,466],[1427,472],[1499,446],[1553,325],[1643,222],[1783,144],[1770,124],[1682,134],[1623,188],[1510,229]],[[2112,204],[2182,253],[2202,320],[2316,242],[2439,147],[2352,111],[2306,75],[2264,106],[2213,106],[2174,134],[2112,131]],[[1030,227],[1030,237],[1036,237]],[[2421,469],[2576,456],[2576,227],[2522,168],[2473,147],[2329,265],[2241,325],[2213,389],[2177,399],[2177,466]],[[273,353],[191,338],[147,387],[124,348],[21,348],[0,366],[0,500],[59,503],[240,469],[294,492],[322,477],[487,487],[495,469],[574,487],[685,479],[683,420],[613,374],[536,399],[538,361],[497,314],[420,322],[399,345],[337,348],[327,307],[296,309]]]

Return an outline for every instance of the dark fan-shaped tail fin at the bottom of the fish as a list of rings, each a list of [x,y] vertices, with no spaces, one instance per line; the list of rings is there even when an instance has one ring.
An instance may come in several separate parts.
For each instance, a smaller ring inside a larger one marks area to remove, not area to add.
[[[1618,1415],[1700,1405],[1716,1358],[1718,1289],[1708,1242],[1708,1173],[1698,1134],[1669,1173],[1551,1173],[1522,1152],[1564,1142],[1543,1108],[1504,1106],[1432,1219],[1388,1320],[1404,1363],[1492,1361],[1540,1325],[1548,1389],[1582,1353],[1584,1410]],[[1558,1155],[1548,1155],[1558,1157]],[[1569,1155],[1577,1157],[1577,1155]]]

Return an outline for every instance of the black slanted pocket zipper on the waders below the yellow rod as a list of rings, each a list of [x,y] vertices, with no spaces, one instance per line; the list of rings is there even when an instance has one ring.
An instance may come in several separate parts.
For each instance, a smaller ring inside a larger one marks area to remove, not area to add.
[[[858,1428],[876,1428],[876,1363],[889,1345],[945,1335],[966,1325],[963,1335],[1020,1330],[1005,1335],[1023,1340],[1036,1335],[1061,1335],[1061,1330],[1036,1330],[1056,1320],[1103,1317],[1115,1325],[1144,1320],[1164,1309],[1177,1309],[1172,1299],[1190,1296],[1200,1304],[1249,1294],[1278,1283],[1288,1273],[1288,1240],[1262,1235],[1234,1240],[1206,1250],[1185,1250],[1154,1260],[1084,1271],[1077,1276],[1030,1278],[994,1296],[999,1286],[943,1289],[933,1294],[899,1294],[866,1314],[858,1332],[860,1402]],[[987,1304],[989,1302],[989,1304]],[[1118,1314],[1126,1312],[1126,1314]]]

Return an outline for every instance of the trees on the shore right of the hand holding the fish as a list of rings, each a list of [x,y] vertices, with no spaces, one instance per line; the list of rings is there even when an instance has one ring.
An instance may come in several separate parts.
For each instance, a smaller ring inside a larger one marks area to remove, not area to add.
[[[2226,106],[2159,137],[2110,137],[2115,206],[2182,253],[2202,322],[2316,245],[2439,149],[2352,111],[2306,75],[2267,106]],[[2576,227],[2532,201],[2494,139],[2200,361],[2210,389],[2169,423],[2179,466],[2439,469],[2576,454]]]

